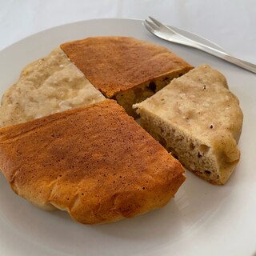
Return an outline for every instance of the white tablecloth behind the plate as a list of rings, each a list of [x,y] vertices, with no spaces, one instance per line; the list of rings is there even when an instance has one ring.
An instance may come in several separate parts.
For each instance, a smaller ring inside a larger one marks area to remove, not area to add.
[[[148,15],[256,63],[255,0],[0,0],[0,50],[52,26]]]

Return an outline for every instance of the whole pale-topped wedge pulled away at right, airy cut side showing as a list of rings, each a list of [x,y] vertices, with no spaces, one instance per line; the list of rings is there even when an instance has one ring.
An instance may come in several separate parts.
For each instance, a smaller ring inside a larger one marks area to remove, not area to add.
[[[183,166],[214,184],[224,184],[238,164],[242,110],[226,78],[198,66],[134,105],[141,124]]]

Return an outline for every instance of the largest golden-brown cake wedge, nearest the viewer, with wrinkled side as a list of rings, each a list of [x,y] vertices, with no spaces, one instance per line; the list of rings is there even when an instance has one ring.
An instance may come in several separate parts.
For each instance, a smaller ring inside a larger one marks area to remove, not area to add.
[[[161,207],[185,180],[181,164],[110,100],[0,129],[0,168],[23,198],[90,224]]]

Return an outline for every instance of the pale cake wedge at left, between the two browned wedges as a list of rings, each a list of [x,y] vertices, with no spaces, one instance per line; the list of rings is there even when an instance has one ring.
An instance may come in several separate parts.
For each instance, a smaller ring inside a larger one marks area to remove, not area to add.
[[[30,63],[2,97],[0,127],[105,100],[60,47]]]

